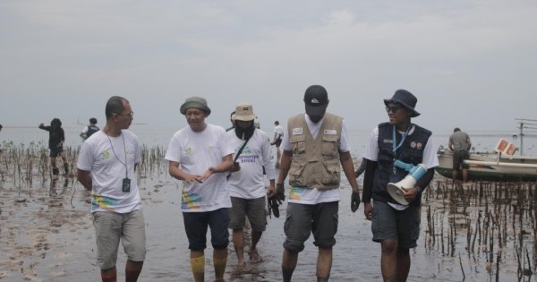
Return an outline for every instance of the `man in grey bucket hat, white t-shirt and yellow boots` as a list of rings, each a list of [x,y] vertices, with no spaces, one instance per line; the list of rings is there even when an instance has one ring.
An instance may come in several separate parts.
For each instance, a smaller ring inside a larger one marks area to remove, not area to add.
[[[169,174],[183,181],[184,229],[188,237],[194,281],[205,277],[207,228],[210,227],[215,281],[224,281],[229,244],[231,200],[224,174],[233,166],[234,148],[224,128],[207,124],[207,100],[187,98],[181,114],[188,126],[175,132],[166,151]]]

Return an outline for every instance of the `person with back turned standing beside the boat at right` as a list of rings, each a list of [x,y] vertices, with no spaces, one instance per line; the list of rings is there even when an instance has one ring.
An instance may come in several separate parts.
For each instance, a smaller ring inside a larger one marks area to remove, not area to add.
[[[470,136],[466,132],[462,132],[460,128],[456,127],[453,130],[453,134],[449,136],[449,149],[453,150],[453,172],[451,178],[453,183],[458,176],[458,171],[463,170],[463,182],[468,181],[468,167],[465,165],[465,159],[470,158],[470,148],[472,148],[472,141]]]

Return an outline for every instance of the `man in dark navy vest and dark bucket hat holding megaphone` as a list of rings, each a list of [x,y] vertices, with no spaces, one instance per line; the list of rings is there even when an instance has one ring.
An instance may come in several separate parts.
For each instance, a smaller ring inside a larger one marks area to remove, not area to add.
[[[410,269],[409,249],[417,246],[420,235],[422,192],[439,165],[431,132],[411,118],[420,115],[414,107],[417,98],[407,90],[396,90],[385,99],[388,123],[373,129],[363,158],[367,159],[363,179],[363,212],[372,220],[373,241],[380,243],[380,269],[384,281],[406,281]],[[428,170],[415,184],[403,187],[409,205],[398,204],[388,193],[387,184],[397,183],[406,175],[394,166],[400,160],[407,164],[424,164]],[[371,198],[373,199],[371,205]]]

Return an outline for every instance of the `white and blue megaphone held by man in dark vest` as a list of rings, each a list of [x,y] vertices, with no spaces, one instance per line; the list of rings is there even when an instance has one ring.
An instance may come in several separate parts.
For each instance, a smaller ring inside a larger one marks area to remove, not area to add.
[[[400,160],[396,160],[394,166],[405,169],[408,171],[408,175],[406,175],[403,180],[397,182],[396,184],[389,183],[387,186],[388,193],[392,198],[394,198],[395,201],[406,206],[409,204],[409,202],[406,201],[405,190],[402,188],[413,188],[418,180],[420,180],[420,178],[427,173],[427,167],[425,167],[423,164],[413,166]]]

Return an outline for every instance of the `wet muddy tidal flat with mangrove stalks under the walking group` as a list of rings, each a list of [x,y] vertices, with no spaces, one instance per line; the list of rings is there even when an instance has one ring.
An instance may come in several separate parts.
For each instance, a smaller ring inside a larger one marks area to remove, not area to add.
[[[98,281],[88,192],[72,175],[51,179],[40,150],[13,150],[0,155],[0,280]],[[163,152],[144,148],[139,171],[148,249],[140,280],[191,281],[180,184],[167,175]],[[76,152],[69,156],[72,167]],[[452,185],[435,178],[423,196],[422,232],[411,250],[409,281],[534,281],[535,189],[525,183]],[[330,281],[379,281],[380,246],[371,241],[362,206],[351,212],[350,195],[343,180]],[[238,266],[229,245],[226,281],[281,280],[286,202],[279,210],[280,218],[268,218],[258,244],[262,262]],[[124,280],[121,249],[118,279]],[[248,261],[247,246],[244,252]],[[209,247],[207,281],[214,279],[211,256]],[[314,280],[316,260],[310,238],[294,280]]]

